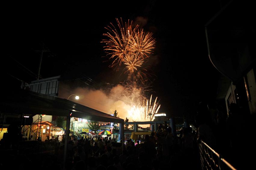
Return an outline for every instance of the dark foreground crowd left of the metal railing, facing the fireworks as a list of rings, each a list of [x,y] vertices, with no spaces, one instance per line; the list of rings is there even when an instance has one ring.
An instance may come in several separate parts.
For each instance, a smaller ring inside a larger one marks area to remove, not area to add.
[[[65,136],[62,138],[60,136],[51,137],[43,142],[47,146],[51,146],[50,151],[37,153],[38,155],[33,153],[8,155],[7,153],[1,157],[4,161],[1,162],[0,167],[1,169],[47,169],[51,167],[63,170],[126,170],[131,168],[183,169],[198,165],[196,160],[190,159],[186,155],[187,144],[182,142],[183,137],[172,135],[170,127],[143,137],[144,142],[139,143],[132,139],[117,142],[115,138],[110,137],[94,136],[77,139],[75,136],[70,136],[66,160],[64,160]],[[12,164],[12,161],[17,163]],[[24,161],[26,163],[23,163]],[[184,161],[187,163],[183,164]]]

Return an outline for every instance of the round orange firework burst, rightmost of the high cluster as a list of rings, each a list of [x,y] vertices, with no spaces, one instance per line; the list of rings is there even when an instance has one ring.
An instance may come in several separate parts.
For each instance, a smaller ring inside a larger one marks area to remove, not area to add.
[[[152,38],[152,33],[145,34],[143,29],[134,32],[134,36],[131,36],[130,46],[131,50],[136,54],[139,54],[143,59],[149,57],[148,54],[153,52],[155,48],[155,39]]]

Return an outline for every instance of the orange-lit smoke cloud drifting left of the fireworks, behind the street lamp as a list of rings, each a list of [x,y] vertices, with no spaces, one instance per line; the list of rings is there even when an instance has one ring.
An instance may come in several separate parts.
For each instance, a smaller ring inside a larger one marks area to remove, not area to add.
[[[113,114],[117,110],[120,118],[125,119],[128,117],[128,111],[131,110],[131,105],[135,103],[133,99],[140,98],[136,101],[142,99],[139,89],[135,88],[133,91],[134,95],[128,96],[126,94],[129,93],[128,88],[120,84],[109,90],[95,90],[88,87],[72,89],[69,84],[61,82],[58,97],[67,99],[68,96],[76,94],[79,96],[79,100],[75,99],[75,95],[71,96],[69,100],[107,114]]]

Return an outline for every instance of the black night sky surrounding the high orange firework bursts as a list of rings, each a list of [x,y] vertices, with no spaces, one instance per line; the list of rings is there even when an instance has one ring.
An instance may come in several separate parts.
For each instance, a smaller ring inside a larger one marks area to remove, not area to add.
[[[42,42],[51,52],[44,53],[43,78],[61,75],[63,79],[88,76],[98,83],[116,84],[120,72],[110,62],[100,43],[104,27],[122,17],[153,32],[156,48],[148,64],[153,95],[161,103],[159,112],[169,117],[196,113],[200,101],[215,100],[219,73],[208,58],[204,25],[220,9],[219,1],[159,2],[126,4],[46,5],[45,8],[12,9],[5,19],[5,55],[1,58],[4,89],[18,89],[21,82],[35,80]],[[15,61],[16,60],[16,61]],[[26,70],[23,66],[28,68]],[[11,77],[14,76],[14,77]],[[2,82],[3,83],[3,82]]]

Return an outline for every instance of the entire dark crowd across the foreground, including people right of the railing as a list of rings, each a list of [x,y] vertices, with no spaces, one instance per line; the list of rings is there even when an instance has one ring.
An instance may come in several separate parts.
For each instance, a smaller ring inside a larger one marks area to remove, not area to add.
[[[124,142],[117,142],[115,138],[101,135],[87,138],[70,136],[66,159],[64,159],[65,136],[53,136],[43,142],[46,146],[51,146],[50,151],[36,154],[5,152],[1,155],[0,168],[201,169],[198,144],[202,140],[239,169],[245,167],[241,161],[250,165],[252,160],[249,152],[253,144],[251,140],[246,140],[250,131],[243,131],[241,128],[241,125],[251,121],[241,114],[236,104],[230,105],[227,118],[218,112],[217,108],[200,103],[194,123],[196,131],[192,131],[188,126],[174,135],[171,127],[165,122],[151,135],[141,136],[143,142],[129,138]],[[16,163],[12,164],[13,161]]]

